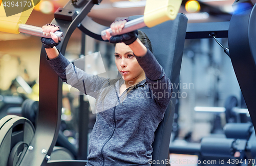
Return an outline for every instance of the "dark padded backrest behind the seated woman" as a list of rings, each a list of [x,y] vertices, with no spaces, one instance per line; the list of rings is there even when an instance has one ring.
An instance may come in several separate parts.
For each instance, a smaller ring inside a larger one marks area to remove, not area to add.
[[[141,16],[131,16],[129,19],[132,20],[138,17]],[[152,28],[143,27],[140,29],[151,40],[153,53],[173,85],[178,85],[179,83],[186,27],[187,17],[182,13],[178,13],[175,20],[166,21]],[[172,100],[165,111],[164,118],[155,132],[155,140],[152,145],[152,159],[156,161],[164,161],[169,154],[170,133],[172,132],[177,96],[177,89],[175,87],[175,94],[173,94]]]

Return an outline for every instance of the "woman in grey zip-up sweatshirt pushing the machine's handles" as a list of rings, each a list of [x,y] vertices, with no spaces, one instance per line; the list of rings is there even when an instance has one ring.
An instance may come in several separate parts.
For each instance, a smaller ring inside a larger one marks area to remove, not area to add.
[[[122,31],[125,22],[112,23],[112,31]],[[53,34],[58,27],[48,25],[42,30],[58,42]],[[151,165],[154,132],[172,95],[170,80],[145,34],[134,31],[114,37],[107,32],[106,37],[116,43],[115,63],[122,75],[118,79],[87,74],[63,57],[54,42],[42,38],[42,43],[62,81],[97,99],[87,165]]]

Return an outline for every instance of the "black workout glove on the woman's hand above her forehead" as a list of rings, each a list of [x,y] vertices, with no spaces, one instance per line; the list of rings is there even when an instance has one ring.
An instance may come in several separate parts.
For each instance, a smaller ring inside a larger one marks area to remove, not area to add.
[[[127,22],[129,20],[125,19]],[[126,34],[122,34],[122,35],[116,35],[116,36],[112,36],[110,38],[110,42],[111,43],[121,43],[123,42],[126,45],[130,45],[132,44],[136,39],[138,38],[138,30],[126,33]]]

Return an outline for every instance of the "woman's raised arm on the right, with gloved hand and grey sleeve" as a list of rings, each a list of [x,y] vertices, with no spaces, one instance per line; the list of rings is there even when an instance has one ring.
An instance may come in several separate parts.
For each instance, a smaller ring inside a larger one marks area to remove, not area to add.
[[[121,32],[125,22],[125,20],[122,20],[112,23],[112,31],[114,33]],[[111,40],[111,37],[111,34],[107,31],[106,38],[110,42],[117,43],[117,41],[120,40],[119,42],[121,42],[123,40],[123,36],[121,35],[115,37],[113,40]],[[163,109],[166,109],[172,97],[173,86],[162,66],[158,63],[153,53],[137,38],[135,33],[131,33],[131,39],[123,42],[132,49],[139,65],[144,70],[146,82],[151,89],[152,98],[154,98]]]

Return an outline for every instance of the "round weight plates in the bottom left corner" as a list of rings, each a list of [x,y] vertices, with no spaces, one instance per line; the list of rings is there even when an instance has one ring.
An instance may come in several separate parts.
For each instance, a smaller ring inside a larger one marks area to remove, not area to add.
[[[26,150],[31,149],[33,124],[26,118],[9,115],[0,120],[0,132],[0,165],[18,165]]]

